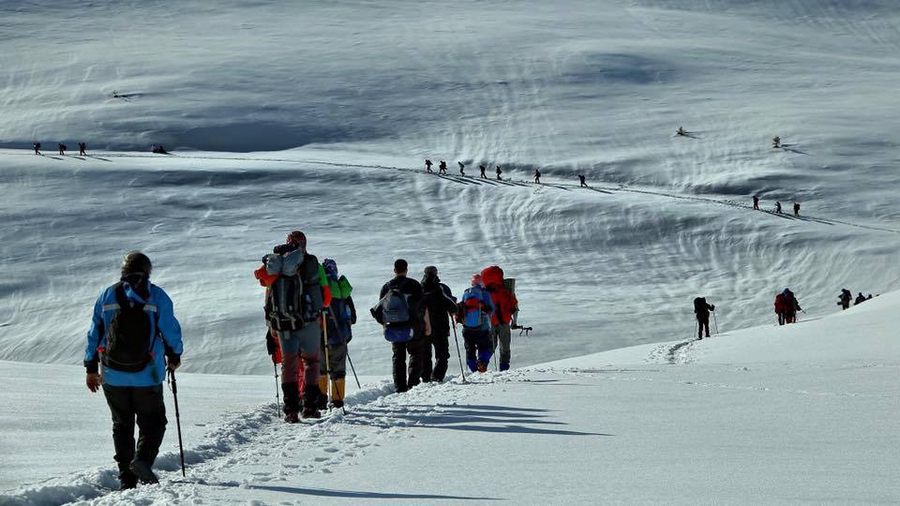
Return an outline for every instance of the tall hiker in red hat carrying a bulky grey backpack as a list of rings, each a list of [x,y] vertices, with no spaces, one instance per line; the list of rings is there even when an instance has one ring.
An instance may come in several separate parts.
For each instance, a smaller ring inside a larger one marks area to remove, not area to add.
[[[266,322],[281,351],[284,421],[297,423],[299,417],[319,418],[319,317],[322,309],[331,304],[325,270],[319,259],[307,252],[306,235],[299,230],[288,234],[285,244],[275,246],[262,262],[254,275],[266,287]]]

